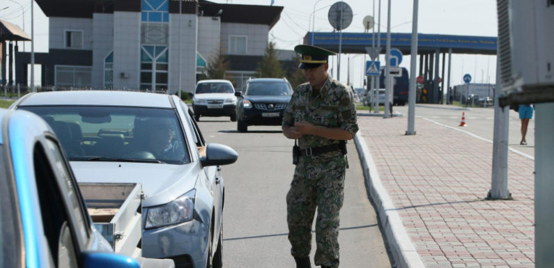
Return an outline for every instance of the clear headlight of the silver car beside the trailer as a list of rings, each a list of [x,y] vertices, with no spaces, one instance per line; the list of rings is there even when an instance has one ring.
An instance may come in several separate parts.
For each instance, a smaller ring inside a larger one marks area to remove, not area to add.
[[[197,190],[192,189],[171,203],[148,208],[144,228],[168,226],[192,220],[196,194]]]

